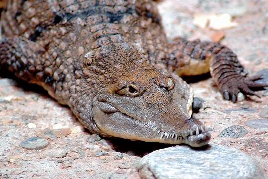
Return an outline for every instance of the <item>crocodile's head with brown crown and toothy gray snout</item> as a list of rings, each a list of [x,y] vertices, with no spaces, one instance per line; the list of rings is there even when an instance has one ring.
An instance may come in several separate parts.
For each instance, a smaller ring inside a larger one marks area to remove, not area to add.
[[[192,101],[192,89],[182,79],[135,69],[94,97],[94,121],[107,136],[200,147],[210,133],[191,118]]]

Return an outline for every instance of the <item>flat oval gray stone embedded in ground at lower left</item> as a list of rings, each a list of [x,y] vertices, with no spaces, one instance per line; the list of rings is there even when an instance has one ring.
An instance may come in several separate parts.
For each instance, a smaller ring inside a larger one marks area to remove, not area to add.
[[[48,141],[40,137],[30,137],[20,143],[20,147],[31,150],[43,149],[47,145]]]

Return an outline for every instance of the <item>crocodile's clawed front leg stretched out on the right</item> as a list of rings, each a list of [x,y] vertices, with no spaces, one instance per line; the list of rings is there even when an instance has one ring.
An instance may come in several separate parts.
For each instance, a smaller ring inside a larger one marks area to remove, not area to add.
[[[239,92],[258,96],[252,88],[267,87],[255,81],[261,76],[248,77],[236,54],[220,43],[176,39],[169,44],[169,70],[179,76],[210,74],[226,100],[237,101]]]

